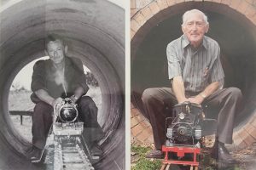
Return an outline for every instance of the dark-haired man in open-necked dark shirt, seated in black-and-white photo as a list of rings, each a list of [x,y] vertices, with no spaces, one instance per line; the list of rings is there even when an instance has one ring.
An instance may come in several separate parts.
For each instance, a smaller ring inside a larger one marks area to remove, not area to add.
[[[52,124],[55,105],[64,98],[70,98],[78,104],[79,120],[84,122],[84,135],[91,155],[101,156],[96,144],[103,137],[97,122],[97,107],[89,96],[81,60],[67,57],[67,45],[61,37],[52,34],[46,38],[46,51],[49,59],[38,60],[33,67],[32,101],[36,104],[32,115],[31,160],[38,160]]]

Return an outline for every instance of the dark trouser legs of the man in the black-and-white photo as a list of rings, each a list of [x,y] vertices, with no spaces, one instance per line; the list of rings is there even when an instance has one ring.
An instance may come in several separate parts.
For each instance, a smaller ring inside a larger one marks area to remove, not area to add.
[[[79,121],[84,122],[83,137],[86,144],[93,144],[104,136],[102,128],[97,122],[97,107],[89,96],[83,96],[78,100]],[[53,122],[53,107],[38,102],[32,115],[32,144],[40,149],[44,145]]]

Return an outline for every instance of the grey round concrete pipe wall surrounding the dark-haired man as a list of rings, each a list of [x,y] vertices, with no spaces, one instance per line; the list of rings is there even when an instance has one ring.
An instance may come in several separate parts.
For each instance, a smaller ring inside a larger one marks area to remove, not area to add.
[[[0,22],[0,169],[47,169],[26,161],[31,143],[10,121],[8,95],[15,75],[44,56],[49,32],[59,33],[99,82],[106,135],[96,169],[124,169],[125,10],[106,0],[3,0]]]

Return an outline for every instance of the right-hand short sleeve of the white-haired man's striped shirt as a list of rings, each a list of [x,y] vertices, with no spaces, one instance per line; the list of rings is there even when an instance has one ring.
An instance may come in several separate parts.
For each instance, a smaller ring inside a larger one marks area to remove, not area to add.
[[[220,82],[221,86],[224,85],[224,71],[220,61],[220,48],[218,46],[215,55],[215,61],[212,65],[212,72],[210,75],[210,82]]]

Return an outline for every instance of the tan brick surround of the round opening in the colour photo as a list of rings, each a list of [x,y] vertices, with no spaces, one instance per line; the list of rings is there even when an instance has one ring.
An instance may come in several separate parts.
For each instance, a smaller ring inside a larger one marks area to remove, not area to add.
[[[131,0],[131,59],[137,50],[137,44],[143,40],[156,22],[170,16],[166,9],[174,11],[180,4],[191,2],[207,2],[215,5],[214,10],[225,13],[218,9],[219,6],[227,6],[237,13],[243,14],[256,25],[256,0]],[[217,5],[217,6],[216,6]],[[172,10],[170,9],[172,8]],[[211,5],[207,8],[213,8]],[[142,114],[131,105],[131,139],[132,142],[152,144],[152,129]],[[247,124],[236,130],[233,136],[234,143],[243,148],[256,142],[256,113]]]

